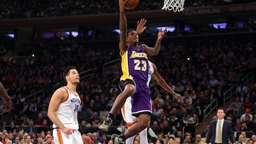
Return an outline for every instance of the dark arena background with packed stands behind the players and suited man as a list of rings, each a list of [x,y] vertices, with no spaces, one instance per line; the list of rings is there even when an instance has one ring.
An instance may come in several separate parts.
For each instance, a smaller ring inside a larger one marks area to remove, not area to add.
[[[139,40],[152,47],[159,28],[167,27],[159,55],[149,60],[182,96],[176,101],[151,80],[149,143],[171,143],[171,138],[205,143],[219,107],[233,123],[237,141],[242,133],[256,143],[256,1],[185,0],[181,12],[161,10],[163,5],[140,0],[126,11],[128,28],[146,19]],[[79,131],[95,144],[111,143],[112,133],[123,133],[127,127],[121,113],[109,132],[98,129],[121,92],[118,44],[117,0],[1,0],[0,78],[13,102],[5,112],[0,101],[1,142],[31,135],[31,143],[39,137],[52,143],[48,104],[65,85],[68,65],[80,72]]]

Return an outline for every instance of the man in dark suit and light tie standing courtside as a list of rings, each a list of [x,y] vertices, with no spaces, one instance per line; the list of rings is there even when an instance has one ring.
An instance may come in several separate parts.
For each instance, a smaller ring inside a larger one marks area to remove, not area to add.
[[[206,138],[206,143],[212,144],[228,144],[228,138],[230,141],[235,144],[235,137],[233,133],[232,123],[227,120],[224,120],[224,110],[222,108],[218,109],[217,112],[217,121],[210,122],[210,130]],[[211,140],[211,142],[210,142]]]

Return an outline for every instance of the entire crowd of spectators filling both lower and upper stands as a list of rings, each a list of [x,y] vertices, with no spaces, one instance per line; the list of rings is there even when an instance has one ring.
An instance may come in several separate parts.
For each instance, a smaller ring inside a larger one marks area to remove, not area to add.
[[[115,8],[118,4],[117,1],[1,2],[4,4],[0,5],[1,18],[73,16],[98,13],[97,11],[110,13],[117,12]],[[142,9],[143,6],[143,9],[159,9],[162,4],[159,1],[141,2],[143,4],[137,9]],[[193,0],[188,1],[186,5],[196,6],[197,3],[201,6],[209,4],[208,2]],[[245,0],[233,1],[239,2]],[[93,11],[85,9],[85,6],[90,6]],[[256,85],[243,85],[241,81],[242,76],[252,72],[250,67],[253,64],[250,62],[256,58],[255,41],[246,37],[242,39],[245,35],[246,33],[240,34],[236,38],[217,35],[213,39],[191,37],[193,40],[184,39],[175,43],[171,38],[167,38],[163,41],[159,55],[149,57],[169,86],[182,96],[181,103],[178,103],[171,94],[164,92],[154,79],[151,81],[153,114],[149,131],[154,132],[149,137],[151,143],[178,144],[201,141],[208,132],[206,127],[203,133],[196,133],[196,123],[203,120],[203,109],[213,99],[218,99],[218,106],[223,106],[224,92],[235,84],[239,85],[237,94],[232,98],[235,102],[226,109],[226,118],[233,123],[236,133],[256,133]],[[14,105],[14,109],[10,113],[4,113],[1,118],[1,142],[10,143],[11,140],[16,143],[16,140],[21,140],[26,143],[53,143],[52,123],[47,117],[48,102],[54,90],[53,85],[63,81],[62,72],[65,67],[75,65],[79,72],[91,68],[94,70],[92,75],[81,79],[78,87],[82,102],[80,131],[89,135],[95,143],[110,143],[110,133],[102,132],[97,127],[105,118],[100,116],[100,111],[109,111],[120,93],[117,86],[121,75],[119,63],[111,65],[112,67],[103,67],[106,62],[119,58],[117,44],[113,42],[110,40],[97,43],[96,39],[85,43],[75,38],[50,38],[47,43],[43,40],[40,44],[24,45],[19,52],[21,55],[31,52],[33,56],[1,60],[1,82]],[[144,42],[151,43],[151,40],[145,39]],[[26,99],[28,95],[41,89],[44,90],[44,95],[35,100]],[[0,105],[3,105],[2,101]],[[112,131],[120,133],[123,126],[125,123],[118,113]],[[183,128],[186,133],[183,133]],[[240,138],[240,134],[237,138]],[[255,138],[252,137],[254,142]],[[139,137],[136,139],[139,140]]]

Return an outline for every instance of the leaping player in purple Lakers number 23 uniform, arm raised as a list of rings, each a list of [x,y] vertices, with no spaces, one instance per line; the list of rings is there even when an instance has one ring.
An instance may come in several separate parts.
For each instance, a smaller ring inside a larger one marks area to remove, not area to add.
[[[154,48],[149,48],[147,45],[138,45],[139,35],[137,31],[127,31],[127,19],[124,13],[124,4],[126,2],[127,0],[119,0],[119,49],[122,57],[123,73],[119,86],[123,91],[117,96],[110,114],[99,128],[102,131],[108,131],[114,116],[122,108],[128,96],[132,96],[132,114],[138,118],[138,123],[129,128],[124,135],[114,138],[114,144],[136,135],[149,126],[152,110],[149,87],[146,85],[149,70],[147,55],[158,55],[161,40],[166,34],[166,28],[164,31],[160,29]]]

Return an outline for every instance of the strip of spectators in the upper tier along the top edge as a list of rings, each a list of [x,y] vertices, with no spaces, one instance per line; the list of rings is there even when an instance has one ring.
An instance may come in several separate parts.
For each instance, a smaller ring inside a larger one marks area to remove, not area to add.
[[[216,6],[224,4],[240,4],[253,0],[190,0],[185,1],[185,7]],[[164,1],[139,1],[134,11],[157,10],[164,6]],[[78,16],[85,14],[117,13],[117,0],[99,1],[18,1],[3,0],[0,4],[0,18],[34,18],[49,16]]]

